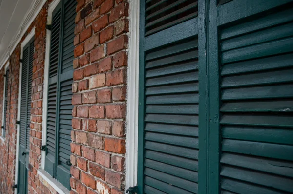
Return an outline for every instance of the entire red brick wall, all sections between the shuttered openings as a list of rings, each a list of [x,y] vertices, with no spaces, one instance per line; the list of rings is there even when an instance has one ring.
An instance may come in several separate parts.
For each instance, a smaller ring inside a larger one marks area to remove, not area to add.
[[[29,153],[29,194],[57,192],[37,174],[41,166],[42,99],[48,0],[10,58],[5,142],[0,140],[0,193],[15,180],[21,43],[35,27]],[[71,194],[122,194],[125,187],[127,0],[79,0],[74,44]],[[0,70],[0,122],[4,67]],[[10,90],[11,86],[11,90]],[[8,122],[9,120],[9,122]],[[8,128],[9,125],[9,128]]]

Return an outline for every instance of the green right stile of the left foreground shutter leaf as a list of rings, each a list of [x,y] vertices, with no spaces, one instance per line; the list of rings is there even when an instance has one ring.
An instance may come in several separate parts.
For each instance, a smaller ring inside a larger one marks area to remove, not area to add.
[[[209,193],[209,2],[198,0],[199,160],[198,193]]]

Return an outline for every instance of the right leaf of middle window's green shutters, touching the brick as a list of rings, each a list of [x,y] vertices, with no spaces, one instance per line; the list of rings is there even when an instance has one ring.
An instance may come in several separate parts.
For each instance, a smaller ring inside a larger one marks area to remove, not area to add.
[[[64,2],[62,58],[59,77],[59,129],[58,129],[58,166],[56,178],[64,186],[70,188],[71,130],[72,130],[72,83],[74,60],[74,27],[76,16],[75,0]]]

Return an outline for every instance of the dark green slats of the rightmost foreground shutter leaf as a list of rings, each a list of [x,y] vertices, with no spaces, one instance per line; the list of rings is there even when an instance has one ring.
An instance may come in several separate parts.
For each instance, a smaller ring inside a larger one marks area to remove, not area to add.
[[[289,4],[220,28],[225,194],[293,193],[292,13]]]

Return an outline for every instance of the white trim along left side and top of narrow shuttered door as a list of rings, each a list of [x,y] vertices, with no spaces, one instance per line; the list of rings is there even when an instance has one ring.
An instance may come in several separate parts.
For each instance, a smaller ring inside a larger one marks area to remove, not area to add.
[[[23,57],[23,48],[26,44],[35,36],[35,28],[25,37],[24,41],[21,43],[21,59]],[[20,63],[20,73],[19,73],[19,91],[18,91],[18,100],[17,100],[17,121],[21,118],[21,75],[22,75],[22,63]],[[17,136],[16,136],[16,152],[15,152],[15,181],[14,184],[18,182],[18,154],[19,154],[19,145],[20,145],[20,125],[17,125]],[[14,194],[17,194],[17,189],[14,190]]]

